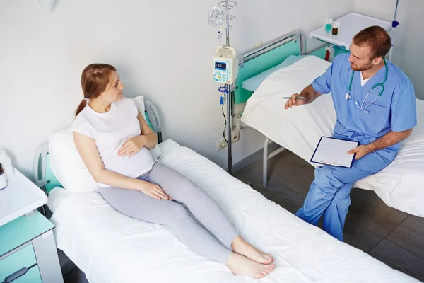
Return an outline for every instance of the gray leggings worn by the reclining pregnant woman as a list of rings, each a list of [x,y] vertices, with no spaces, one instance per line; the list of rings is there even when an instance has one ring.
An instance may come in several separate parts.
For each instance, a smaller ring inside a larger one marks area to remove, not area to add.
[[[231,243],[238,233],[222,209],[204,190],[159,162],[155,163],[151,171],[138,178],[160,185],[172,200],[156,200],[138,190],[118,187],[102,187],[100,194],[118,212],[135,219],[170,226],[177,238],[194,252],[227,263]]]

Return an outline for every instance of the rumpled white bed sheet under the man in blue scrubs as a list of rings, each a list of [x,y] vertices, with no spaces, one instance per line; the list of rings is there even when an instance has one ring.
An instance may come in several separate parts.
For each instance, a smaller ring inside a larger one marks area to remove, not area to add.
[[[300,93],[329,65],[329,62],[310,56],[271,74],[247,100],[242,122],[310,162],[319,138],[331,137],[333,133],[336,111],[331,94],[320,96],[310,105],[289,110],[284,110],[286,100],[281,97]],[[395,160],[353,187],[374,190],[389,207],[423,217],[424,101],[417,99],[416,103],[418,125],[411,137],[402,141]]]

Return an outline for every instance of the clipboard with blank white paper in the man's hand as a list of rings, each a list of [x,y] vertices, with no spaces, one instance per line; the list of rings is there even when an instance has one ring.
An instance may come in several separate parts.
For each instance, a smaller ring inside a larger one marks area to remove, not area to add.
[[[356,154],[347,154],[359,145],[359,141],[348,141],[334,137],[321,137],[312,154],[311,163],[352,168]]]

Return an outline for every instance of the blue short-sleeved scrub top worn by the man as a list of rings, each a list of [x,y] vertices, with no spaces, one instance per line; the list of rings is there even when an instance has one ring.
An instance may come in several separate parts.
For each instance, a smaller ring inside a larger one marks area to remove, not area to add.
[[[384,92],[374,103],[360,110],[355,101],[361,105],[368,91],[376,83],[384,80],[385,68],[360,85],[360,71],[355,71],[351,87],[351,99],[346,100],[349,82],[353,70],[348,61],[350,54],[340,54],[334,58],[331,66],[322,76],[312,83],[315,91],[326,94],[331,92],[336,109],[337,121],[334,126],[334,136],[340,139],[359,141],[360,144],[370,144],[384,136],[387,132],[401,132],[417,125],[416,97],[413,85],[401,69],[387,62],[388,74],[384,83]],[[381,90],[377,86],[365,100],[364,106],[374,100]],[[400,144],[394,144],[377,151],[387,161],[393,161],[399,151]]]

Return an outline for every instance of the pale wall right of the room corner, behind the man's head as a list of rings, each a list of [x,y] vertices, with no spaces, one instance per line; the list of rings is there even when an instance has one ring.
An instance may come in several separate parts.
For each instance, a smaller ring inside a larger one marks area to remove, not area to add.
[[[355,11],[393,21],[396,0],[355,0]],[[424,1],[400,0],[392,60],[411,79],[417,98],[424,100]]]

